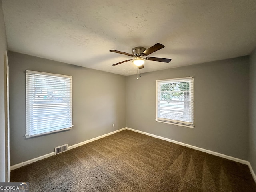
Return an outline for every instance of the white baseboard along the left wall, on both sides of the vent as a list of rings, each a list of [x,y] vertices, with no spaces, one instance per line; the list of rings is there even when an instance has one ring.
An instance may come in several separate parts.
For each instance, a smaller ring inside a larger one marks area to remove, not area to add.
[[[104,134],[104,135],[102,135],[102,136],[98,136],[98,137],[95,137],[95,138],[86,140],[86,141],[84,141],[84,142],[80,142],[80,143],[78,143],[78,144],[74,144],[74,145],[72,145],[72,146],[69,146],[69,147],[68,147],[68,150],[73,149],[73,148],[76,148],[76,147],[79,147],[79,146],[84,145],[84,144],[86,144],[86,143],[89,143],[89,142],[98,140],[98,139],[100,139],[100,138],[104,138],[104,137],[106,137],[106,136],[112,135],[112,134],[114,134],[114,133],[120,132],[120,131],[125,130],[125,129],[126,129],[126,128],[122,128],[122,129],[119,129],[119,130],[116,130],[116,131],[113,131],[113,132]],[[12,170],[14,170],[14,169],[17,169],[17,168],[20,168],[20,167],[22,167],[22,166],[25,166],[25,165],[34,163],[34,162],[36,162],[36,161],[42,160],[42,159],[44,159],[44,158],[48,158],[48,157],[50,157],[50,156],[53,156],[54,154],[55,154],[54,152],[51,152],[51,153],[42,155],[42,156],[40,156],[40,157],[36,157],[36,158],[34,158],[34,159],[30,159],[30,160],[27,160],[27,161],[25,161],[25,162],[21,162],[21,163],[12,165],[12,166],[10,166],[10,171],[12,171]]]

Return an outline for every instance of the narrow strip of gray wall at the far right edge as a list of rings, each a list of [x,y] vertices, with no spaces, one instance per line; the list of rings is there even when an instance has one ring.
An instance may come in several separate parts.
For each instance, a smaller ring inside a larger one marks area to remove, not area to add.
[[[256,173],[256,49],[250,54],[249,162]]]

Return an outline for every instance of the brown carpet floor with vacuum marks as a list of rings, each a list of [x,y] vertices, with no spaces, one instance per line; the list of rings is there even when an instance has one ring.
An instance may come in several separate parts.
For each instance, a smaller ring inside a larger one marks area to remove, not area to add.
[[[256,192],[247,165],[130,130],[11,172],[30,192]]]

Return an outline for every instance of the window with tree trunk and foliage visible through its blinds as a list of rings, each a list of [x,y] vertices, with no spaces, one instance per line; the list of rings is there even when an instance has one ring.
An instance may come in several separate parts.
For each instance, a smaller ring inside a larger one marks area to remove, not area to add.
[[[156,121],[194,127],[194,77],[156,80]]]

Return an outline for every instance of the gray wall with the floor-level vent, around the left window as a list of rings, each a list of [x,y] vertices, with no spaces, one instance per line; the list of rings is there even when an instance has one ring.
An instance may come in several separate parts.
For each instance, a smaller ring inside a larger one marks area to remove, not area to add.
[[[126,127],[126,77],[9,52],[11,165]],[[25,138],[25,70],[72,76],[73,128]],[[112,124],[115,123],[115,127]]]

